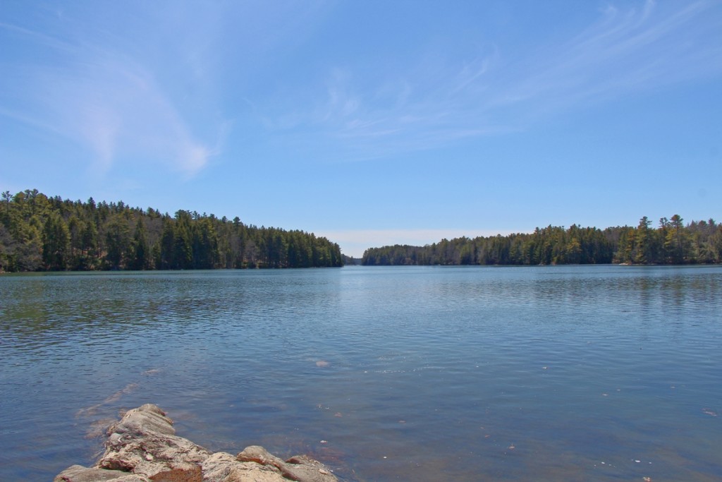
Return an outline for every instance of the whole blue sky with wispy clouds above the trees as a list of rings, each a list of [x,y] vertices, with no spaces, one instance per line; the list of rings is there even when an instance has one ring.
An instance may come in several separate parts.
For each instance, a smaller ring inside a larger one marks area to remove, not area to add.
[[[0,190],[386,244],[722,207],[721,1],[0,3]]]

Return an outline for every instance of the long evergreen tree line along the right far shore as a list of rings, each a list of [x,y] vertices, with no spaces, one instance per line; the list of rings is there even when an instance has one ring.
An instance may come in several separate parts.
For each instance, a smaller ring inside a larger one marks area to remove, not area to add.
[[[702,264],[722,261],[722,224],[713,219],[684,225],[679,215],[652,228],[645,216],[636,227],[563,228],[534,233],[442,239],[427,246],[367,249],[364,265],[401,264]]]

